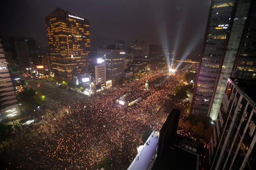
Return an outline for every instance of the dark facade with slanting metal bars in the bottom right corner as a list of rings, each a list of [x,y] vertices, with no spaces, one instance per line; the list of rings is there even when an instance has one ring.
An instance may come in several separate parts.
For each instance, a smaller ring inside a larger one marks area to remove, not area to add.
[[[228,79],[209,144],[210,170],[256,169],[255,85]]]

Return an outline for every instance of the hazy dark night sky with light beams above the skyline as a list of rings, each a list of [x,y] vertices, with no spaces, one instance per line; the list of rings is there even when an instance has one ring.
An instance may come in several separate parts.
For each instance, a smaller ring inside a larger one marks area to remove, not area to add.
[[[60,7],[89,19],[92,46],[138,39],[183,56],[201,53],[209,6],[210,0],[4,0],[0,30],[6,45],[9,36],[22,36],[42,46],[45,16]]]

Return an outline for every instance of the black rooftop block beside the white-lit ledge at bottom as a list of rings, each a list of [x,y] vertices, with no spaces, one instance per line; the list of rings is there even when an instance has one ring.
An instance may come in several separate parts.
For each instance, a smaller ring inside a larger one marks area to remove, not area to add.
[[[180,110],[173,108],[160,130],[157,156],[152,158],[149,170],[198,169],[201,145],[177,134],[179,118]]]

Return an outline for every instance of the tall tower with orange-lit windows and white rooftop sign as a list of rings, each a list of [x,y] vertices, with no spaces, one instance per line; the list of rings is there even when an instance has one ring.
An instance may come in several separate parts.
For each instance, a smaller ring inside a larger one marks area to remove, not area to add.
[[[45,17],[52,71],[60,77],[90,73],[89,20],[57,8]]]

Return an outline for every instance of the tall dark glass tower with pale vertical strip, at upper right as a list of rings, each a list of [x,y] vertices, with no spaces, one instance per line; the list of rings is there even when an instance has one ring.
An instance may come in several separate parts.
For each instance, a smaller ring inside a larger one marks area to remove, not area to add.
[[[190,109],[192,115],[206,114],[217,119],[227,79],[234,68],[240,69],[236,74],[253,77],[255,40],[249,38],[255,36],[254,6],[254,0],[212,0]]]

